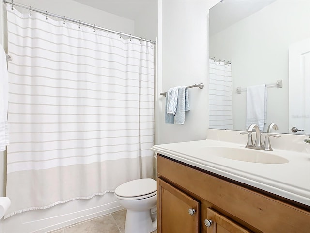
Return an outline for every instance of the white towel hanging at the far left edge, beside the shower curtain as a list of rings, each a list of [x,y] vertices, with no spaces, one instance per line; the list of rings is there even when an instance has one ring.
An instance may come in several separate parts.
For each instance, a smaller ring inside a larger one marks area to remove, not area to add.
[[[6,54],[0,49],[0,151],[9,145],[8,135],[8,69],[6,66]]]

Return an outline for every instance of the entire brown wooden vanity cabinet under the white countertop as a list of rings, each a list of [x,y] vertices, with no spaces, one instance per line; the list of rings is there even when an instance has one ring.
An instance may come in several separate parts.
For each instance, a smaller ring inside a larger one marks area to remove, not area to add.
[[[309,206],[159,154],[157,177],[158,233],[310,233]]]

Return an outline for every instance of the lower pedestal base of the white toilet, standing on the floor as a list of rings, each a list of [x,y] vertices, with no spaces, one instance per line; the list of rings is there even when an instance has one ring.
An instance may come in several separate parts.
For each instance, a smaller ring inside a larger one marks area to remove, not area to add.
[[[137,221],[139,219],[139,221]],[[152,222],[150,210],[127,210],[125,233],[151,233],[157,229],[157,219]]]

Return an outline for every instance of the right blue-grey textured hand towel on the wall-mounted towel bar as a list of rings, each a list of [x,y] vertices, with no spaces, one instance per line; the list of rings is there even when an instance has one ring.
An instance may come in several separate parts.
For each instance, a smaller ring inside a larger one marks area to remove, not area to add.
[[[178,103],[175,113],[175,123],[183,125],[185,122],[185,111],[189,111],[188,89],[185,86],[178,89]]]

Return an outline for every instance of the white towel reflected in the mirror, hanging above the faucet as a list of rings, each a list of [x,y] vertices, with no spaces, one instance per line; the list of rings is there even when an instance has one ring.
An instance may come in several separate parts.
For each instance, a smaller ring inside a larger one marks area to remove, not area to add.
[[[247,87],[247,119],[246,127],[257,124],[263,131],[267,118],[267,86]]]

